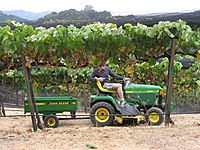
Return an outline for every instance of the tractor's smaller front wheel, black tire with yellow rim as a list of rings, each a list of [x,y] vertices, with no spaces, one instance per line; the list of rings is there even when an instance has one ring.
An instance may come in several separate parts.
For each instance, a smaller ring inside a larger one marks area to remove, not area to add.
[[[164,114],[160,108],[152,107],[147,111],[150,125],[161,125],[164,121]]]

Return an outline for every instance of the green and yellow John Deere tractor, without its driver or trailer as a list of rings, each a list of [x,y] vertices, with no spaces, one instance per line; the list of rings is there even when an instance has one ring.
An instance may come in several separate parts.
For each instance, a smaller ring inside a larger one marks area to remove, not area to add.
[[[134,124],[162,124],[165,106],[160,86],[133,83],[125,86],[125,106],[112,96],[115,91],[104,89],[99,81],[97,86],[99,94],[90,96],[90,120],[95,126],[123,124],[127,120]]]

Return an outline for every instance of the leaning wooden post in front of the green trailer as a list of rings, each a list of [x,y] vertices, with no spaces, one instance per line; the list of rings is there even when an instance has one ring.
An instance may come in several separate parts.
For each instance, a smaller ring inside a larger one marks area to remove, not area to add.
[[[31,75],[30,75],[30,68],[26,66],[26,58],[25,56],[22,56],[22,66],[24,70],[24,75],[26,79],[26,83],[28,86],[28,98],[29,98],[29,107],[31,112],[31,119],[33,124],[33,130],[37,131],[37,125],[40,129],[43,129],[43,126],[41,125],[38,109],[35,102],[34,92],[33,92],[33,86],[31,81]],[[37,125],[36,125],[36,118],[37,118]]]

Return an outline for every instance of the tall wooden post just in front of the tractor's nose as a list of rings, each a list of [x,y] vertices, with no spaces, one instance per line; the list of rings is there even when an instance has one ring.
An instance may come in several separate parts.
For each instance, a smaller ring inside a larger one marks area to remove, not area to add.
[[[166,94],[166,102],[165,102],[165,113],[166,113],[165,126],[169,126],[169,123],[171,122],[170,104],[171,104],[172,89],[173,89],[175,46],[176,46],[176,39],[173,39],[172,46],[171,46],[171,57],[169,58],[169,66],[168,66],[167,94]]]

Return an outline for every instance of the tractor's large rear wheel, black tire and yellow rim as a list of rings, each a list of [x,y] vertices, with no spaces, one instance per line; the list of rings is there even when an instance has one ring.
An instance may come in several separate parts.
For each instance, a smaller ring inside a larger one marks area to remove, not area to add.
[[[90,120],[95,126],[109,126],[113,124],[115,109],[106,102],[98,102],[90,109]],[[102,116],[98,116],[102,115]]]

